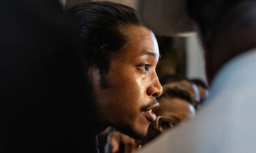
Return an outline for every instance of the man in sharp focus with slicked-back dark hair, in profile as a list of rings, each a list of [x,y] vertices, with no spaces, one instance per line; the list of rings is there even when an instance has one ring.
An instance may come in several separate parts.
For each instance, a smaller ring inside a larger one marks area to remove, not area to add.
[[[126,5],[91,2],[76,5],[70,12],[82,48],[90,89],[86,94],[95,108],[90,121],[93,133],[113,126],[135,139],[145,137],[156,120],[156,97],[162,94],[154,33]]]

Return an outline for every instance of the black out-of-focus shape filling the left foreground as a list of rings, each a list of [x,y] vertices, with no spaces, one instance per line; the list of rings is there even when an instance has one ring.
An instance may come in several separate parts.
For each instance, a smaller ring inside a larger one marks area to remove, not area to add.
[[[0,44],[0,152],[96,152],[79,45],[58,1],[0,1]]]

